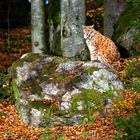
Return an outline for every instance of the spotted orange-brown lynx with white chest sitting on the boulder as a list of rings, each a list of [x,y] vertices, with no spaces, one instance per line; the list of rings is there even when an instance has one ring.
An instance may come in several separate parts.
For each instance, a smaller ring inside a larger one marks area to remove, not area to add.
[[[83,26],[84,39],[90,52],[90,59],[112,64],[120,58],[112,40],[96,31],[93,26]]]

